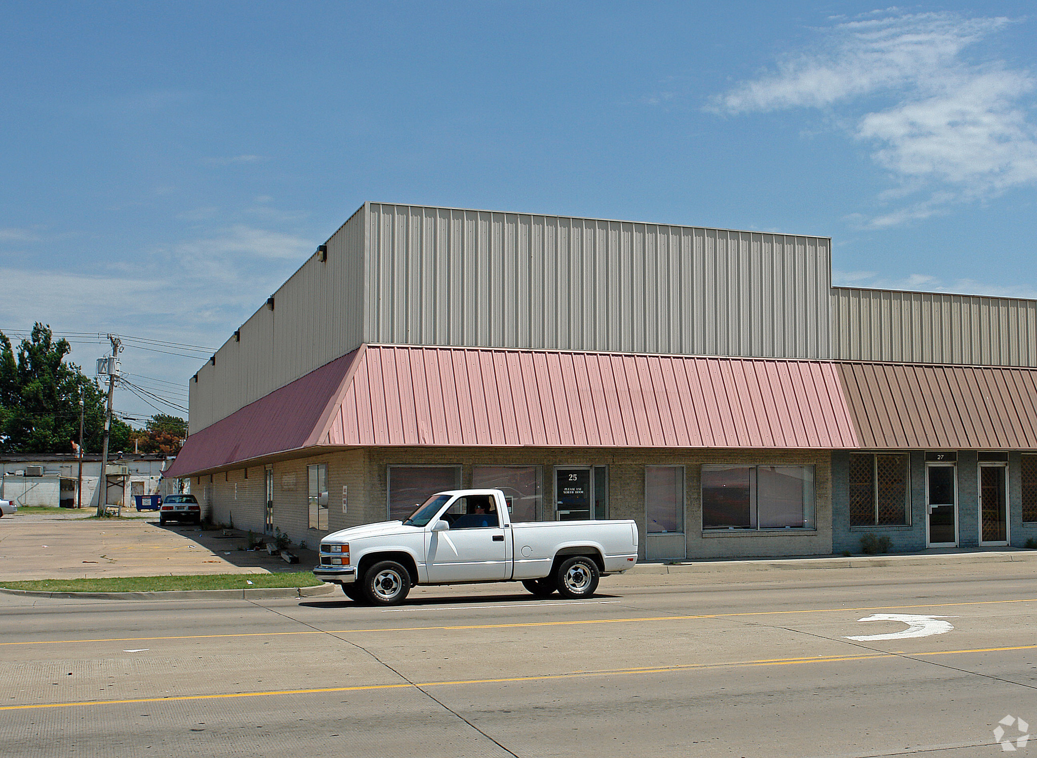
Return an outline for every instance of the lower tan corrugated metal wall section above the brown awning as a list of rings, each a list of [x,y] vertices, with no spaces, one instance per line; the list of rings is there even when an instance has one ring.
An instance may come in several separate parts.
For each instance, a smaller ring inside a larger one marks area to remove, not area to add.
[[[1037,300],[832,288],[844,360],[1037,367]]]

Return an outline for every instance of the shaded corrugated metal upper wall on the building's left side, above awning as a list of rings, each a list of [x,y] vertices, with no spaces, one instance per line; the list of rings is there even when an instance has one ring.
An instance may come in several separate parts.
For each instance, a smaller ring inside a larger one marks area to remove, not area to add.
[[[363,331],[365,209],[328,241],[328,260],[312,255],[260,306],[190,382],[191,432],[355,350]]]

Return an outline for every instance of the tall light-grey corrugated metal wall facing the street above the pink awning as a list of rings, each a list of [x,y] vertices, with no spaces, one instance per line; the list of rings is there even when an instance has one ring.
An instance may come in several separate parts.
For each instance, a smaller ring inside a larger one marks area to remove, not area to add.
[[[829,357],[828,238],[369,208],[366,343]]]

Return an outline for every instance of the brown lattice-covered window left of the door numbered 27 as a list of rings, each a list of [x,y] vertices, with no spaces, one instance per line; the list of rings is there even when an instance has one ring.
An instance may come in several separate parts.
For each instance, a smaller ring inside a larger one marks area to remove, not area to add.
[[[849,457],[849,525],[909,523],[907,456],[861,454]]]

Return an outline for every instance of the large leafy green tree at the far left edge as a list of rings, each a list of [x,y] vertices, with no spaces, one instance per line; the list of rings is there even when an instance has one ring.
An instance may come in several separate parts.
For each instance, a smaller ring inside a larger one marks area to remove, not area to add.
[[[16,349],[0,332],[0,452],[72,453],[79,440],[79,400],[84,402],[83,446],[100,453],[106,394],[65,356],[72,346],[36,323]],[[112,419],[109,450],[127,450],[131,428]]]

